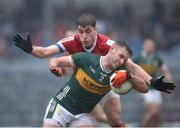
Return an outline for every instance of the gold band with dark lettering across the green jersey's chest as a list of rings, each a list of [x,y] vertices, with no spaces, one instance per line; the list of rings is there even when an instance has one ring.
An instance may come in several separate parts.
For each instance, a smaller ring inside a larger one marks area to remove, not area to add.
[[[89,77],[89,75],[86,74],[81,68],[78,68],[77,70],[76,79],[82,88],[94,94],[102,95],[111,89],[111,87],[108,85],[105,86],[97,83],[95,80]]]

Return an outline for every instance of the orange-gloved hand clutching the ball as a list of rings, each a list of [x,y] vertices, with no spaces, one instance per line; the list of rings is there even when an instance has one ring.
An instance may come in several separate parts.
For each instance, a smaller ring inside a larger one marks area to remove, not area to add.
[[[116,76],[111,80],[112,86],[117,88],[121,86],[126,80],[131,79],[131,74],[126,70],[115,71]]]

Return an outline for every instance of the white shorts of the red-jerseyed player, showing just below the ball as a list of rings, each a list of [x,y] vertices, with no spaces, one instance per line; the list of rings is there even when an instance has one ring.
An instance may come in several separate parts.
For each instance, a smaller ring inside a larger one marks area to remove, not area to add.
[[[104,108],[105,103],[111,98],[117,98],[120,101],[120,95],[111,90],[100,100],[101,107]]]

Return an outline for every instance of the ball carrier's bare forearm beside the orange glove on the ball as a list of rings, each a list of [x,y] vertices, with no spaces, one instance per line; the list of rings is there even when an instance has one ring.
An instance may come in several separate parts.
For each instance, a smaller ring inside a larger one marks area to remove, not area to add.
[[[136,75],[131,74],[131,83],[133,84],[133,88],[139,92],[146,93],[148,92],[148,85],[145,83],[143,79],[137,77]]]

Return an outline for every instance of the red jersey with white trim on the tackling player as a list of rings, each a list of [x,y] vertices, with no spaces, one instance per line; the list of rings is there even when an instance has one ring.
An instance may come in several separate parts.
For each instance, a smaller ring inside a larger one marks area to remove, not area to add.
[[[99,55],[106,55],[113,43],[114,41],[109,37],[102,34],[97,34],[93,46],[90,49],[86,49],[82,46],[79,35],[76,34],[72,37],[67,37],[58,41],[56,46],[59,48],[60,52],[67,51],[69,54],[90,52]]]

